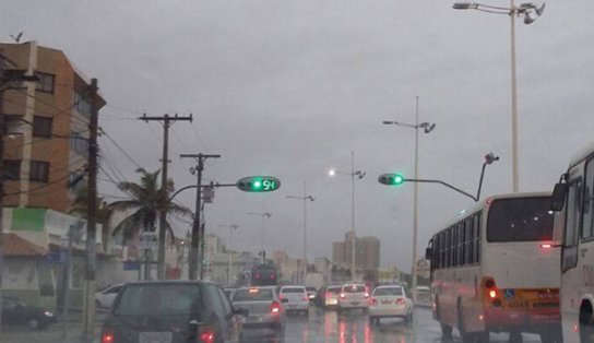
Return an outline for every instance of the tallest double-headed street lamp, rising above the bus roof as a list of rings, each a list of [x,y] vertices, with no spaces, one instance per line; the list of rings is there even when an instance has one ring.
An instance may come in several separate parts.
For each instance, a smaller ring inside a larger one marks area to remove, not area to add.
[[[515,16],[523,16],[524,24],[532,24],[545,10],[545,4],[536,7],[534,3],[522,3],[519,7],[514,0],[510,0],[510,7],[495,7],[482,3],[455,2],[455,10],[477,10],[495,14],[510,16],[511,25],[511,154],[512,154],[512,190],[520,190],[520,177],[518,166],[518,88],[515,84]]]

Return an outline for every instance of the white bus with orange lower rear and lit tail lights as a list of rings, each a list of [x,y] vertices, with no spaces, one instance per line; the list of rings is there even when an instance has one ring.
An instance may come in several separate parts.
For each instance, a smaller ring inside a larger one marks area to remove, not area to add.
[[[444,338],[456,328],[462,342],[488,342],[489,332],[560,342],[554,216],[550,193],[500,194],[432,236],[431,306]]]

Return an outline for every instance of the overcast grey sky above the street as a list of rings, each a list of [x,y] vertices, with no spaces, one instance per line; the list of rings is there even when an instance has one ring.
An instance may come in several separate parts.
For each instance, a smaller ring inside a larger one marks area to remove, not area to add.
[[[491,0],[495,5],[509,1]],[[539,4],[540,2],[538,2]],[[356,230],[381,239],[381,262],[409,269],[413,185],[388,188],[380,174],[413,175],[414,130],[384,119],[436,122],[419,140],[419,177],[476,191],[483,156],[484,194],[511,191],[510,20],[455,11],[452,1],[210,0],[0,2],[0,40],[23,39],[63,50],[97,78],[108,105],[100,126],[138,164],[159,168],[162,128],[146,113],[192,114],[170,130],[169,174],[195,182],[182,153],[222,154],[205,180],[235,182],[274,175],[266,194],[219,189],[206,205],[207,230],[236,223],[235,248],[264,244],[300,256],[304,181],[309,258],[331,257],[351,227],[351,180],[328,169],[367,172],[356,181]],[[520,188],[550,190],[570,156],[592,142],[594,2],[550,1],[535,23],[516,22]],[[102,138],[104,166],[116,180],[136,180],[134,163]],[[107,199],[121,197],[105,181]],[[178,201],[192,206],[194,192]],[[419,187],[419,252],[430,235],[472,200],[443,187]],[[185,233],[188,224],[178,222]]]

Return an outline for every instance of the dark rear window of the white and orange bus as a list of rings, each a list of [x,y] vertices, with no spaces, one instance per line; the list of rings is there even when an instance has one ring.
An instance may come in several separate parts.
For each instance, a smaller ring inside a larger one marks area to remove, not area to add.
[[[489,209],[487,241],[540,241],[553,239],[550,198],[495,200]]]

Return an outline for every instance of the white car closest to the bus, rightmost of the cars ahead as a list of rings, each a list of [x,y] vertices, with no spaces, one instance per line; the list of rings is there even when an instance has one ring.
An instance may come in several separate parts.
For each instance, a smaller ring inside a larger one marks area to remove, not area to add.
[[[378,286],[369,298],[369,322],[379,323],[380,318],[404,318],[413,320],[413,301],[400,285]]]

